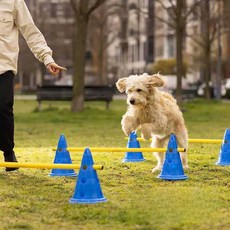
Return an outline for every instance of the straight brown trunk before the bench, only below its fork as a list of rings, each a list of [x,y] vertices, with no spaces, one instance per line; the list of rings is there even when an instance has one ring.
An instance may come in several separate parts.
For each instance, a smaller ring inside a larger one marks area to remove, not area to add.
[[[73,97],[71,110],[73,112],[84,109],[84,76],[85,53],[87,37],[88,16],[76,16],[76,32],[74,36],[74,72],[73,72]]]

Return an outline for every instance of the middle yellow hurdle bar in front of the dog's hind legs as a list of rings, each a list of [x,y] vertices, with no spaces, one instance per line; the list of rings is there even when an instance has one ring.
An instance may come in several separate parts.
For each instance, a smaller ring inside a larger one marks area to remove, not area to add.
[[[160,152],[164,153],[167,151],[166,148],[95,148],[87,147],[92,152]],[[57,149],[53,148],[54,151]],[[85,147],[69,147],[67,151],[70,152],[84,152]],[[186,152],[185,148],[178,148],[178,152]]]

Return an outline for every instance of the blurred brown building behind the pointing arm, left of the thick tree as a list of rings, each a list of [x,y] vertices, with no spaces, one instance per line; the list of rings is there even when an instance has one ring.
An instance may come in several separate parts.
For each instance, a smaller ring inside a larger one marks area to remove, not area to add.
[[[35,59],[26,42],[20,36],[19,69],[16,88],[22,91],[36,89],[38,84],[54,84],[56,80],[71,81],[72,73],[72,37],[74,18],[69,0],[25,0],[35,24],[43,33],[48,46],[53,50],[57,63],[66,66],[68,71],[61,72],[58,78],[52,77]],[[71,83],[70,83],[71,84]]]

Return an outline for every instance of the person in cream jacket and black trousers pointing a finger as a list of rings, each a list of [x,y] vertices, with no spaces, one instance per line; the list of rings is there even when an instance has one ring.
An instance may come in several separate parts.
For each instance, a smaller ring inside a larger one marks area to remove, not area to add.
[[[5,162],[17,162],[14,153],[14,76],[17,73],[19,31],[35,57],[57,75],[65,68],[55,63],[52,50],[34,24],[24,0],[0,0],[0,150]],[[18,168],[6,167],[6,171]]]

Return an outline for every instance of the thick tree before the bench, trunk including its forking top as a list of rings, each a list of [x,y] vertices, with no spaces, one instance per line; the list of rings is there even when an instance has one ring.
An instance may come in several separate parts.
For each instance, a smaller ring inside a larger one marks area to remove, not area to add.
[[[73,97],[71,110],[84,108],[85,54],[89,18],[94,10],[106,0],[70,0],[75,15],[75,33],[73,40]]]

